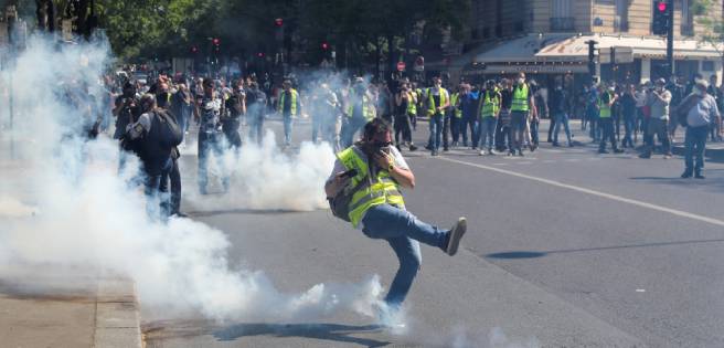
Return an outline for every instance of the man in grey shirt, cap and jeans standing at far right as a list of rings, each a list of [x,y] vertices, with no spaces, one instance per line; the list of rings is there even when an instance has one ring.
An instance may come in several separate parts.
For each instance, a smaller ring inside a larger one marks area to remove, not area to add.
[[[684,172],[682,178],[704,179],[704,150],[706,137],[711,123],[720,117],[718,107],[714,97],[706,93],[709,83],[705,80],[696,80],[692,94],[686,96],[678,107],[679,113],[684,113],[686,134],[684,137]]]

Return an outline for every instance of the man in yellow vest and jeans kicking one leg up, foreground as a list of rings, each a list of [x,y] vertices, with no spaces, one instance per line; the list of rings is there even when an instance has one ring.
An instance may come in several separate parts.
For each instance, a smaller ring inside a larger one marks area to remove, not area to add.
[[[385,297],[385,309],[393,312],[402,305],[419,270],[419,242],[455,255],[467,225],[465,218],[450,230],[417,220],[405,210],[401,187],[413,189],[415,176],[392,146],[390,124],[381,118],[364,126],[361,141],[337,154],[324,186],[336,217],[371,239],[387,241],[397,255],[400,268]]]

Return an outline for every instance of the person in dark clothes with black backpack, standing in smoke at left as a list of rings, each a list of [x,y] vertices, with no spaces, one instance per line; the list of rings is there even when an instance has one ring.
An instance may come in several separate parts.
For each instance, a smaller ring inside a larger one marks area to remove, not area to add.
[[[146,94],[140,99],[141,115],[134,124],[129,124],[126,138],[132,144],[136,155],[141,160],[146,176],[145,193],[148,199],[146,209],[152,219],[164,219],[169,215],[168,189],[161,184],[169,177],[173,160],[173,147],[161,140],[161,124],[158,115],[156,97]],[[158,204],[158,205],[157,205]]]

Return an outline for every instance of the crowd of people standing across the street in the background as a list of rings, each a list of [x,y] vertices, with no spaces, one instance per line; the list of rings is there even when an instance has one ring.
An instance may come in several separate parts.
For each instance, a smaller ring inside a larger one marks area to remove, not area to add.
[[[129,154],[140,158],[148,178],[147,193],[162,202],[158,204],[162,215],[182,215],[177,161],[179,147],[185,146],[183,139],[194,122],[202,194],[207,193],[211,155],[221,169],[223,189],[228,190],[222,154],[238,151],[243,141],[260,144],[270,115],[283,120],[283,147],[291,146],[297,119],[308,118],[309,139],[326,141],[334,151],[355,144],[364,125],[375,118],[391,125],[397,150],[418,150],[413,135],[418,130],[418,120],[425,119],[429,124],[425,148],[433,156],[451,148],[468,148],[481,156],[524,156],[540,146],[542,118],[550,118],[547,143],[552,146],[579,146],[569,125],[575,117],[601,154],[608,152],[608,147],[616,154],[631,148],[638,149],[639,157],[650,158],[658,140],[663,157],[671,157],[673,137],[685,127],[682,177],[703,178],[705,143],[722,140],[718,109],[724,103],[724,87],[717,85],[715,76],[710,81],[695,76],[688,84],[663,78],[640,85],[594,82],[578,92],[569,78],[561,76],[553,80],[552,86],[542,86],[526,80],[524,73],[455,86],[440,77],[432,78],[426,86],[407,78],[370,82],[339,73],[301,81],[289,76],[277,88],[268,75],[226,80],[159,74],[146,84],[106,76],[105,86],[106,93],[98,98],[71,92],[65,97],[73,104],[100,105],[97,113],[87,108],[89,122],[84,123],[83,133],[94,137],[115,129],[120,167]],[[95,120],[91,116],[94,114],[98,115]],[[243,128],[246,131],[242,134]]]

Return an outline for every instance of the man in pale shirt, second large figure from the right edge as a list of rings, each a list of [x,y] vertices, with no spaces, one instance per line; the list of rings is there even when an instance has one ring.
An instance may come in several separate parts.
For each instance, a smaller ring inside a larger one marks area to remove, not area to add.
[[[663,146],[663,157],[671,157],[671,141],[669,139],[669,105],[671,104],[671,92],[664,88],[667,81],[659,78],[654,83],[653,91],[649,93],[647,104],[650,108],[649,127],[646,129],[648,139],[640,158],[651,158],[656,145],[653,136],[659,138]]]

